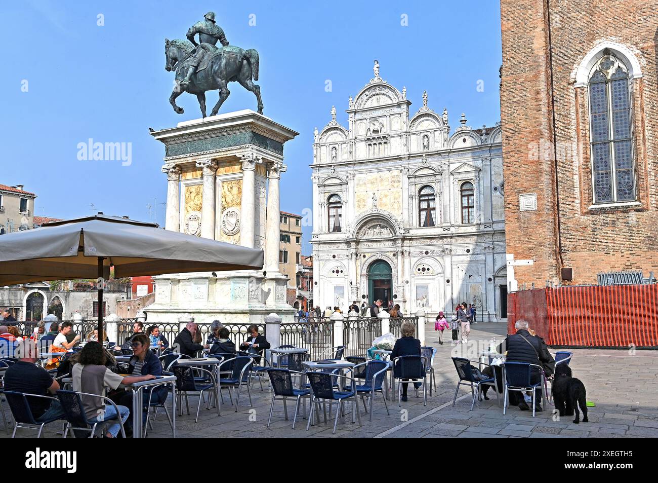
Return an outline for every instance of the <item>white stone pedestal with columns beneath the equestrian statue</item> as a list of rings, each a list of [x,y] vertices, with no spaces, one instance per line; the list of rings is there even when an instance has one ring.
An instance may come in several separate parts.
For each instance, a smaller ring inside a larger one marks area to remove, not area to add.
[[[243,110],[151,135],[166,151],[166,229],[265,249],[266,256],[262,271],[155,277],[155,302],[144,309],[149,323],[176,323],[189,315],[263,324],[272,312],[292,322],[287,279],[278,271],[279,180],[286,171],[283,145],[297,132]]]

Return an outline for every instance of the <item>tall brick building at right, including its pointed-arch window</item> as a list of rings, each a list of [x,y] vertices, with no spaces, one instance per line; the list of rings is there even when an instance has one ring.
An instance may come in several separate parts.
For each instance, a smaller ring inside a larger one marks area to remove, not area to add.
[[[655,2],[502,0],[507,281],[658,272]]]

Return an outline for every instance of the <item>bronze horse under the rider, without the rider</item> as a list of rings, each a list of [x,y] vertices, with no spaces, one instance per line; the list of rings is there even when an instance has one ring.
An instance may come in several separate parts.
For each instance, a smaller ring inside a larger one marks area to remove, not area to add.
[[[258,52],[255,49],[243,50],[240,47],[232,47],[230,52],[214,55],[208,67],[195,72],[190,78],[188,86],[182,86],[181,82],[186,75],[185,61],[188,59],[194,46],[188,40],[174,39],[164,40],[164,54],[168,72],[176,71],[176,84],[169,96],[169,102],[174,111],[182,114],[183,108],[176,105],[176,98],[183,92],[194,94],[199,99],[201,115],[206,117],[205,92],[208,90],[219,90],[219,101],[213,107],[211,116],[216,115],[222,107],[226,98],[231,94],[228,83],[237,80],[243,88],[250,90],[258,101],[258,112],[263,114],[263,99],[261,99],[261,88],[251,80],[258,80]],[[198,47],[197,47],[198,48]]]

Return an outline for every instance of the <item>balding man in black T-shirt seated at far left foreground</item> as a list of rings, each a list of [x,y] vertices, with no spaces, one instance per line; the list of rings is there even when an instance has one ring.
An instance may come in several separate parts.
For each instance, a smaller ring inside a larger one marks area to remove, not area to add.
[[[44,368],[35,364],[38,349],[34,341],[26,340],[18,343],[16,356],[18,362],[12,364],[5,372],[5,390],[39,396],[54,395],[59,389],[59,383]],[[64,418],[64,411],[59,401],[28,397],[32,416],[36,422],[51,418]]]

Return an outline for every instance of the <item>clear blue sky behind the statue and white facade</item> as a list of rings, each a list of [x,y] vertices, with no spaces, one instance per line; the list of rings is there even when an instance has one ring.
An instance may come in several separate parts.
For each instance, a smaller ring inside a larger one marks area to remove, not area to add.
[[[432,109],[447,107],[453,130],[462,112],[472,127],[500,119],[495,0],[249,4],[1,3],[0,184],[21,184],[36,192],[36,215],[76,217],[91,213],[93,204],[94,211],[164,225],[164,147],[148,128],[199,117],[193,96],[178,98],[183,115],[168,103],[173,74],[164,71],[164,38],[185,38],[209,9],[230,43],[259,51],[265,115],[300,133],[284,149],[284,211],[301,214],[312,208],[313,128],[321,130],[330,121],[332,105],[338,121],[347,125],[348,98],[372,78],[373,59],[380,63],[382,78],[399,90],[407,86],[412,113],[427,90]],[[230,89],[220,112],[256,109],[251,92],[237,83]],[[208,96],[210,111],[216,94]],[[131,143],[132,163],[79,160],[78,143],[89,138]],[[304,254],[311,252],[311,230],[304,228]]]

